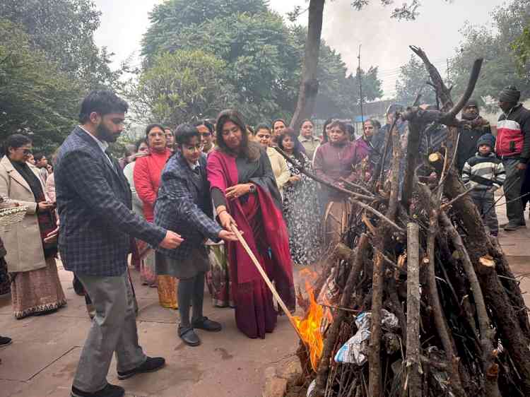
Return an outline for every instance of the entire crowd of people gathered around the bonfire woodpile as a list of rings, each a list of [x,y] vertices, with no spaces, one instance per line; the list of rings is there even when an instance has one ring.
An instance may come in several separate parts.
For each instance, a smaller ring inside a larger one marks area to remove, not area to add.
[[[478,102],[470,100],[461,114],[466,124],[455,166],[493,236],[499,228],[493,192],[501,186],[505,230],[525,225],[530,112],[519,97],[513,87],[500,93],[496,140]],[[33,155],[22,134],[8,137],[0,160],[1,205],[26,208],[20,223],[1,229],[0,295],[11,291],[17,319],[50,314],[66,305],[57,258],[73,272],[74,290],[93,318],[73,380],[76,397],[123,395],[107,383],[113,352],[119,379],[165,364],[138,344],[131,271],[139,272],[143,288],[158,289],[161,306],[179,310],[177,335],[189,346],[201,343],[196,330],[222,330],[203,314],[205,283],[215,306],[235,308],[242,333],[265,338],[278,309],[235,230],[294,312],[293,268],[319,263],[348,227],[349,196],[329,185],[358,186],[376,168],[390,172],[385,143],[392,126],[403,150],[408,134],[397,104],[387,109],[386,124],[365,120],[357,137],[337,119],[326,120],[322,131],[305,119],[295,131],[283,119],[252,127],[228,109],[215,121],[150,124],[117,160],[108,145],[122,133],[127,109],[114,93],[93,91],[81,105],[80,124],[50,162]],[[430,124],[418,155],[441,150],[446,138],[445,126]],[[0,345],[9,342],[0,337]]]

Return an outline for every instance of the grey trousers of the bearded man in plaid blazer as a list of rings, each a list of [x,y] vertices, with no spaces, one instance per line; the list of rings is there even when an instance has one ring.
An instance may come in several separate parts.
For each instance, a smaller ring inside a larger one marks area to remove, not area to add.
[[[95,308],[73,386],[94,393],[107,386],[112,353],[117,369],[126,372],[139,367],[146,355],[138,344],[133,295],[127,272],[115,277],[76,274]]]

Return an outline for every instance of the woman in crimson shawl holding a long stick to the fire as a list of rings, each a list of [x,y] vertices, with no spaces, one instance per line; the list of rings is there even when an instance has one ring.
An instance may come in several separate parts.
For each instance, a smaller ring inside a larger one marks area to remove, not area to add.
[[[244,233],[276,290],[289,309],[295,309],[293,266],[281,196],[269,156],[249,142],[239,112],[225,110],[217,120],[218,148],[208,156],[208,181],[223,227]],[[228,243],[228,262],[235,300],[237,328],[249,338],[265,338],[276,326],[272,294],[239,242]]]

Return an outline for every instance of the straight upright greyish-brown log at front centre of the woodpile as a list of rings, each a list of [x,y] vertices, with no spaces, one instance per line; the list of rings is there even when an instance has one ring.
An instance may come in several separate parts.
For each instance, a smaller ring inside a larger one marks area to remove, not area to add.
[[[408,397],[422,396],[420,374],[420,229],[407,225],[406,368]]]

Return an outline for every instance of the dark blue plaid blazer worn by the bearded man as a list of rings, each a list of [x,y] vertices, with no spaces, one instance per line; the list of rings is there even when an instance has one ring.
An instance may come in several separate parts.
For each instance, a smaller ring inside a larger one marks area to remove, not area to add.
[[[122,275],[130,237],[158,246],[165,230],[131,211],[131,190],[116,160],[76,127],[59,148],[54,169],[59,252],[64,268],[87,275]]]

